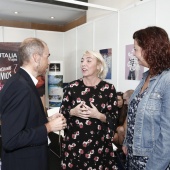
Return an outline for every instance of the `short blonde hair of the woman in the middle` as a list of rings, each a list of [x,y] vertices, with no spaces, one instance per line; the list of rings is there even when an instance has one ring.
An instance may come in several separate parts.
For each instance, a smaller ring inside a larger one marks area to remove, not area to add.
[[[86,51],[84,53],[84,55],[89,55],[89,54],[96,57],[97,62],[99,63],[100,68],[98,70],[98,77],[102,80],[105,79],[107,72],[108,72],[108,68],[107,68],[104,58],[99,52],[96,52],[96,51]]]

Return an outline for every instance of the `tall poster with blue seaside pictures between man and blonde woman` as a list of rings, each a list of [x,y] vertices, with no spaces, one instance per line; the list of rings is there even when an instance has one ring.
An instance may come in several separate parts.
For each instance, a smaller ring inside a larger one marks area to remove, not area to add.
[[[60,107],[63,97],[62,62],[52,62],[49,65],[48,98],[49,108]]]

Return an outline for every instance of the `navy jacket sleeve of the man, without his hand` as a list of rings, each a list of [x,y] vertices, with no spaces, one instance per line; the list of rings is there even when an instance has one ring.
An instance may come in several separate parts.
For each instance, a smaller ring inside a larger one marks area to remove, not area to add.
[[[9,151],[47,142],[44,124],[37,126],[35,109],[31,113],[31,92],[25,84],[20,83],[11,84],[12,87],[5,91],[2,99],[2,142],[4,149]],[[33,118],[32,124],[29,118]]]

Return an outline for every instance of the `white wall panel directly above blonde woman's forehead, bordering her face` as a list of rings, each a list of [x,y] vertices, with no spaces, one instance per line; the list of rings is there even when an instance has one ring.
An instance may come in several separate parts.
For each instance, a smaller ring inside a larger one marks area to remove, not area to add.
[[[93,22],[77,28],[77,78],[82,77],[80,61],[86,50],[93,50]]]

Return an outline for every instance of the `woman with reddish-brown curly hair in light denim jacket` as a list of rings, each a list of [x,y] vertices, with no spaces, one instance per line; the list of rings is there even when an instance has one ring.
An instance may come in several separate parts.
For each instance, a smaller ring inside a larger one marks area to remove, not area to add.
[[[123,151],[128,170],[165,170],[170,163],[170,41],[160,27],[133,34],[134,56],[149,68],[132,94]]]

